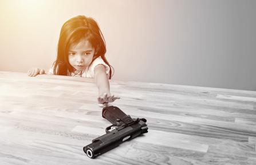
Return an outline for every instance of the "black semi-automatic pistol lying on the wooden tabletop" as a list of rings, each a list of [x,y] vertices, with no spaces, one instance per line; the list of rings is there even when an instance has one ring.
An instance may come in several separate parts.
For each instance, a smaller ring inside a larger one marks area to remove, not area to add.
[[[119,144],[148,132],[146,119],[132,119],[118,107],[109,106],[103,108],[103,118],[112,123],[106,128],[106,134],[93,139],[92,143],[84,147],[84,152],[89,158],[96,158],[119,146]]]

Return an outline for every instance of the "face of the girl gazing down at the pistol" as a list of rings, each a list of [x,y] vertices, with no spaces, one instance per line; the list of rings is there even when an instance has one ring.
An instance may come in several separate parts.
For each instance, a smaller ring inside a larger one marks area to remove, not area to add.
[[[94,52],[94,47],[92,47],[88,40],[84,39],[69,47],[69,63],[77,71],[82,71],[92,62]]]

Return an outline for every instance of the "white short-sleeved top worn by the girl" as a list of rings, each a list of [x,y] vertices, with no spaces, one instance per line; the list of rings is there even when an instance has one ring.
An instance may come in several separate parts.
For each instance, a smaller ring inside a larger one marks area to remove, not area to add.
[[[72,73],[68,73],[69,76],[72,76],[72,77],[86,77],[86,78],[94,78],[94,68],[97,66],[97,65],[104,65],[105,66],[105,69],[106,69],[106,74],[108,75],[109,74],[109,71],[110,71],[110,68],[109,66],[103,61],[103,59],[101,57],[98,57],[96,58],[92,64],[90,65],[89,68],[86,68],[85,70],[83,71],[80,71],[80,72],[72,72]],[[48,74],[53,74],[53,67],[51,69],[49,69],[48,71]]]

